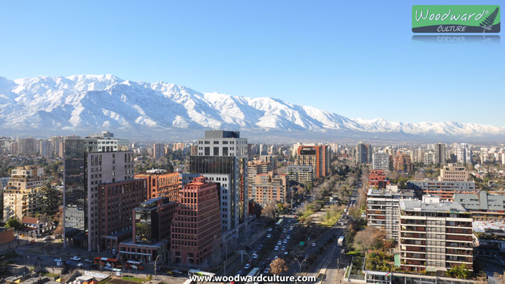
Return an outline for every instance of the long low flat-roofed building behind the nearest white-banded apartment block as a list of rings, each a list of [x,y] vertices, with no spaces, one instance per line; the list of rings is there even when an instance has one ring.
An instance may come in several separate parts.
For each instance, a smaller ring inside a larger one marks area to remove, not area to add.
[[[408,189],[414,189],[417,196],[431,194],[440,196],[441,201],[453,201],[454,194],[476,192],[475,182],[441,182],[436,180],[409,180]]]

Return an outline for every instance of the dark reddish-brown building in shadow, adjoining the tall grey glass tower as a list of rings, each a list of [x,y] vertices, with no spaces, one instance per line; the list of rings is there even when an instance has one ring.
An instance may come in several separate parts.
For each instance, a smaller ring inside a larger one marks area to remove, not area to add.
[[[146,199],[146,182],[142,179],[100,184],[99,250],[116,250],[121,241],[132,236],[133,208]]]

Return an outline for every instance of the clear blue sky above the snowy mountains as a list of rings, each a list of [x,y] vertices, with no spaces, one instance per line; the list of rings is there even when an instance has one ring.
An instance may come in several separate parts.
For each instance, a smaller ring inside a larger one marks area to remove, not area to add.
[[[115,74],[351,118],[505,126],[505,43],[412,41],[413,4],[483,3],[1,1],[0,76]]]

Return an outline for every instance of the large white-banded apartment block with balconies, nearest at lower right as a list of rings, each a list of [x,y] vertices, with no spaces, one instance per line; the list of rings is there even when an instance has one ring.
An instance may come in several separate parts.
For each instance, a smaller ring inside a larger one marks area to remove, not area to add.
[[[400,199],[400,263],[406,271],[473,270],[471,213],[461,204]]]

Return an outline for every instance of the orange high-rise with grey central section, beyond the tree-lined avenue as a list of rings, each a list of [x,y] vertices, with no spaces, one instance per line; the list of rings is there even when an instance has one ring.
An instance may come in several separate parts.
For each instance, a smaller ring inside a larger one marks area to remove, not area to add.
[[[315,177],[330,176],[330,147],[328,145],[298,147],[295,165],[311,165],[314,168]]]

